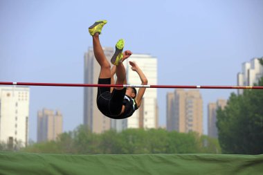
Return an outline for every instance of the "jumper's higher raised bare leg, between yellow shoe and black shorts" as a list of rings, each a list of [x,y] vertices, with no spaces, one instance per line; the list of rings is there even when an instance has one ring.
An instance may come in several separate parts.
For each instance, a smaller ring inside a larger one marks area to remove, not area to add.
[[[100,39],[98,33],[92,36],[93,38],[93,51],[98,64],[100,64],[99,78],[111,77],[111,64],[109,64],[107,58],[104,55],[102,46],[100,45]]]

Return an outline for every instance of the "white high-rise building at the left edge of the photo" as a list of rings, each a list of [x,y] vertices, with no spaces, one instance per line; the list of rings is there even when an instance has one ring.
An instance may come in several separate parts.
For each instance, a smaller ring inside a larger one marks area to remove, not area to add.
[[[29,88],[0,86],[0,141],[11,148],[28,144]]]

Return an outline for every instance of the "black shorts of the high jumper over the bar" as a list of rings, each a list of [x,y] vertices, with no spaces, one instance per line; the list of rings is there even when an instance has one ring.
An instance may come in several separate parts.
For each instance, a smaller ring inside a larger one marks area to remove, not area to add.
[[[98,84],[111,84],[111,78],[99,78]],[[115,89],[110,92],[110,87],[98,87],[97,106],[100,112],[109,118],[118,118],[123,108],[123,99],[126,88]]]

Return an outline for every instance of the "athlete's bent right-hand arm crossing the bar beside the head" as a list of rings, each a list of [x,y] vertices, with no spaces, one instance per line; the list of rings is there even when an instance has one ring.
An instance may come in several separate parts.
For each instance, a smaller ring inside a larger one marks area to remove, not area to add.
[[[140,77],[140,81],[142,82],[142,85],[147,85],[148,84],[147,77],[144,75],[143,71],[139,68],[139,66],[135,62],[129,62],[129,64],[131,65],[131,70],[136,71],[136,73],[138,73]],[[145,90],[146,88],[139,88],[139,91],[135,98],[137,107],[140,107],[140,104],[143,100],[143,95],[145,93]]]

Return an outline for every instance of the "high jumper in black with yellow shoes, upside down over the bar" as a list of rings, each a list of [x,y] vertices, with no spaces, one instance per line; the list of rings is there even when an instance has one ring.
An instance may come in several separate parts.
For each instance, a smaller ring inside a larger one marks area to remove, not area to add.
[[[99,35],[102,27],[107,21],[96,21],[89,27],[89,33],[93,38],[93,51],[98,64],[100,64],[100,75],[98,84],[114,84],[114,74],[116,73],[116,84],[127,84],[126,71],[123,66],[123,61],[127,59],[132,53],[130,50],[123,52],[124,41],[120,39],[116,44],[116,51],[111,58],[111,63],[107,61],[102,46],[100,45]],[[143,85],[147,84],[147,78],[143,71],[135,62],[129,62],[131,70],[138,73]],[[97,106],[98,109],[109,118],[122,119],[131,116],[136,109],[140,107],[145,93],[145,88],[140,88],[136,94],[136,89],[127,87],[98,87]]]

